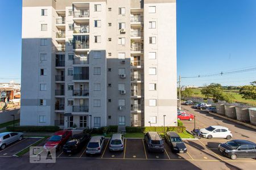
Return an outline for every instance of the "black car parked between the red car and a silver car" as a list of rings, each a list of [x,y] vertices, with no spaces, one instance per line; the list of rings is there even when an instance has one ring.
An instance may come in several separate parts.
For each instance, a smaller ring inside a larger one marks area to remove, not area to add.
[[[90,134],[74,134],[71,139],[63,146],[63,152],[66,154],[75,154],[85,146],[90,140]]]

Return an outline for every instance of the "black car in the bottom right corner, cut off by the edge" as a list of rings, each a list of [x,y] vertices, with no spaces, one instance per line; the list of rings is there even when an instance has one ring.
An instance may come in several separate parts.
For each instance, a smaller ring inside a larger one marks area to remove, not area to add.
[[[256,144],[245,140],[232,140],[218,145],[218,150],[230,159],[256,158]]]

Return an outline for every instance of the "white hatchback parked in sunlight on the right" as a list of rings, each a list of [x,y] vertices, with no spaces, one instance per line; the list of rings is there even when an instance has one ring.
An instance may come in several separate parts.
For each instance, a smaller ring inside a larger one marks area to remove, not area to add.
[[[201,136],[204,138],[226,138],[231,139],[231,131],[224,126],[209,126],[208,128],[200,129]]]

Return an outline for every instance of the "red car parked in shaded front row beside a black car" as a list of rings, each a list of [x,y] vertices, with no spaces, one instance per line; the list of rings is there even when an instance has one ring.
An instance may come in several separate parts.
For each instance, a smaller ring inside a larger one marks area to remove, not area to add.
[[[63,145],[68,141],[68,139],[72,137],[72,131],[71,130],[61,130],[55,132],[54,135],[52,135],[50,138],[48,138],[48,141],[46,144],[44,144],[44,149],[49,148],[56,148],[56,150],[61,150]]]

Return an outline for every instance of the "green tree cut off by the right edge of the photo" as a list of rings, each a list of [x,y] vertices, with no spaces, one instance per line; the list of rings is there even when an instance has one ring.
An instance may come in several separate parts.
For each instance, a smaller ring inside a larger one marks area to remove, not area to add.
[[[243,99],[256,100],[256,81],[251,82],[250,85],[241,87],[240,94],[242,95]]]

